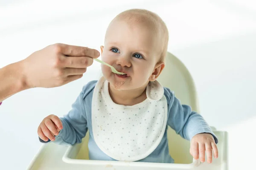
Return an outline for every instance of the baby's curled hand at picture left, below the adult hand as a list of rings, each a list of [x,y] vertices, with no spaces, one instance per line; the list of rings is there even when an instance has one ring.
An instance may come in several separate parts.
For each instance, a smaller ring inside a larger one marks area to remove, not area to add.
[[[54,136],[57,136],[58,132],[62,128],[61,120],[58,118],[58,116],[52,114],[44,118],[44,120],[38,126],[38,136],[45,142],[47,142],[48,139],[54,141]]]

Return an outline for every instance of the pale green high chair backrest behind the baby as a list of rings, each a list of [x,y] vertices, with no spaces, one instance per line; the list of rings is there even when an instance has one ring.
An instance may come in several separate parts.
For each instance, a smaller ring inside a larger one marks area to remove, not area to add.
[[[157,80],[163,87],[174,91],[181,104],[189,105],[193,111],[199,112],[195,84],[186,66],[177,57],[167,52],[166,66]],[[175,163],[191,163],[189,154],[190,142],[181,138],[170,127],[168,128],[169,153]]]

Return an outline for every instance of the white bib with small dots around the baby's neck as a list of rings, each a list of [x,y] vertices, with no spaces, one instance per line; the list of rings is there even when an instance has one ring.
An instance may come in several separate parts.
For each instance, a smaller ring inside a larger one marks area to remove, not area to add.
[[[118,105],[102,77],[92,100],[93,137],[98,147],[118,161],[138,161],[152,153],[163,138],[167,101],[159,82],[149,82],[147,99],[132,106]]]

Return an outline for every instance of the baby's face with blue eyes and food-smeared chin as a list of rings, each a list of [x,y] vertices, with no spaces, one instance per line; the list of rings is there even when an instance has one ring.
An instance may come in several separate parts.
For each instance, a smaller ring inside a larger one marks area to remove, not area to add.
[[[158,39],[146,26],[121,20],[111,23],[105,46],[101,47],[102,60],[127,75],[114,74],[108,66],[102,65],[104,77],[118,90],[145,88],[149,80],[155,80],[153,72],[159,66]]]

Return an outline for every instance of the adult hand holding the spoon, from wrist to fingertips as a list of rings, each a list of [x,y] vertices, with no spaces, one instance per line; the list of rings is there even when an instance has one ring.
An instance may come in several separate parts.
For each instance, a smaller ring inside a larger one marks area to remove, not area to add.
[[[79,79],[99,55],[87,47],[49,45],[21,61],[26,86],[52,88]]]

